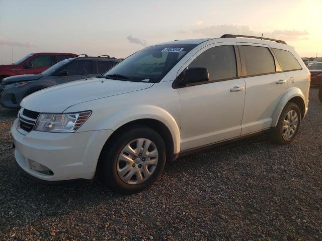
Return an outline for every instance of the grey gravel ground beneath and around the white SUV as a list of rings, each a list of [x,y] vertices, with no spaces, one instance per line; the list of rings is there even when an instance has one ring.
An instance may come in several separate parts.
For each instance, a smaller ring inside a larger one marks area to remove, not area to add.
[[[267,135],[196,153],[166,165],[158,181],[122,196],[100,183],[45,186],[15,166],[0,109],[2,240],[322,240],[322,103],[292,144]]]

